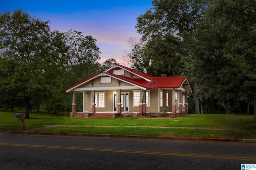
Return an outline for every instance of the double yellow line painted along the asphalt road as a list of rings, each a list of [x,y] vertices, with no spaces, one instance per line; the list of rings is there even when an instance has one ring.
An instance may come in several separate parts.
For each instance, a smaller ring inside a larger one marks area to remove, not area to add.
[[[167,156],[186,156],[186,157],[197,157],[197,158],[256,161],[256,158],[235,157],[235,156],[182,154],[182,153],[169,153],[169,152],[149,152],[149,151],[138,151],[138,150],[115,150],[115,149],[97,149],[97,148],[80,148],[80,147],[59,147],[59,146],[45,146],[45,145],[24,145],[24,144],[12,144],[12,143],[0,143],[0,145],[15,146],[15,147],[37,147],[37,148],[51,148],[51,149],[92,150],[92,151],[102,151],[102,152],[124,152],[124,153],[136,153],[136,154],[155,154],[155,155],[167,155]]]

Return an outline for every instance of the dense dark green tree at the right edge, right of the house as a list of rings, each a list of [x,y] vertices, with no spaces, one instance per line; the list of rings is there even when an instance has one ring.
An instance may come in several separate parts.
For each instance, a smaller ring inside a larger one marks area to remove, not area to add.
[[[212,0],[188,43],[201,93],[227,113],[255,94],[255,10],[250,0]]]

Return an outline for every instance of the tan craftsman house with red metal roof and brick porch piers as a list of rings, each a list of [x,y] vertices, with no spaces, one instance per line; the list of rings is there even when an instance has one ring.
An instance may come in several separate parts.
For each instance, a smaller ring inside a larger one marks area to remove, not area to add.
[[[163,109],[168,116],[180,117],[188,113],[192,90],[185,76],[152,77],[114,64],[66,92],[73,92],[73,117],[159,115]],[[83,93],[83,112],[76,112],[76,92]]]

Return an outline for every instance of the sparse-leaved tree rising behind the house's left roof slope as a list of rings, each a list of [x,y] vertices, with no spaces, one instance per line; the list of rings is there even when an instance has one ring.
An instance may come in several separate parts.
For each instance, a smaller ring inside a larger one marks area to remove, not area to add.
[[[69,47],[69,64],[80,78],[78,81],[95,74],[97,68],[92,65],[100,66],[97,62],[100,59],[100,48],[96,45],[97,40],[92,38],[91,35],[84,36],[82,32],[72,29],[68,30],[65,36]],[[100,70],[100,67],[98,67],[98,70]]]

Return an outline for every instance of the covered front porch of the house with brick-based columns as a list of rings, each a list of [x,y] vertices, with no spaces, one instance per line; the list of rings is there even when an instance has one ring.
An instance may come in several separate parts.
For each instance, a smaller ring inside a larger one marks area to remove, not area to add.
[[[130,91],[127,89],[124,89],[124,90],[119,89],[119,90],[106,90],[104,91],[104,93],[98,92],[96,90],[91,90],[83,93],[86,93],[88,96],[86,100],[84,99],[85,101],[84,106],[86,106],[86,104],[88,106],[86,107],[86,109],[84,108],[83,112],[77,112],[76,111],[76,91],[73,91],[73,102],[72,102],[73,117],[116,118],[116,117],[148,117],[149,116],[153,118],[153,117],[181,117],[181,116],[187,115],[188,113],[187,92],[184,92],[179,89],[162,89],[162,90],[132,89]],[[99,102],[97,103],[97,98],[98,98],[97,94],[99,93],[104,94],[103,96],[105,98],[103,102],[104,104],[102,104],[104,105],[104,107],[102,108],[99,107],[100,106]],[[151,104],[147,105],[148,103],[150,103],[150,96],[152,98]],[[138,100],[136,97],[139,97]],[[169,98],[172,98],[172,100],[169,100]],[[137,105],[135,104],[136,102],[137,102]],[[166,108],[165,116],[161,114],[163,112],[163,108]]]

